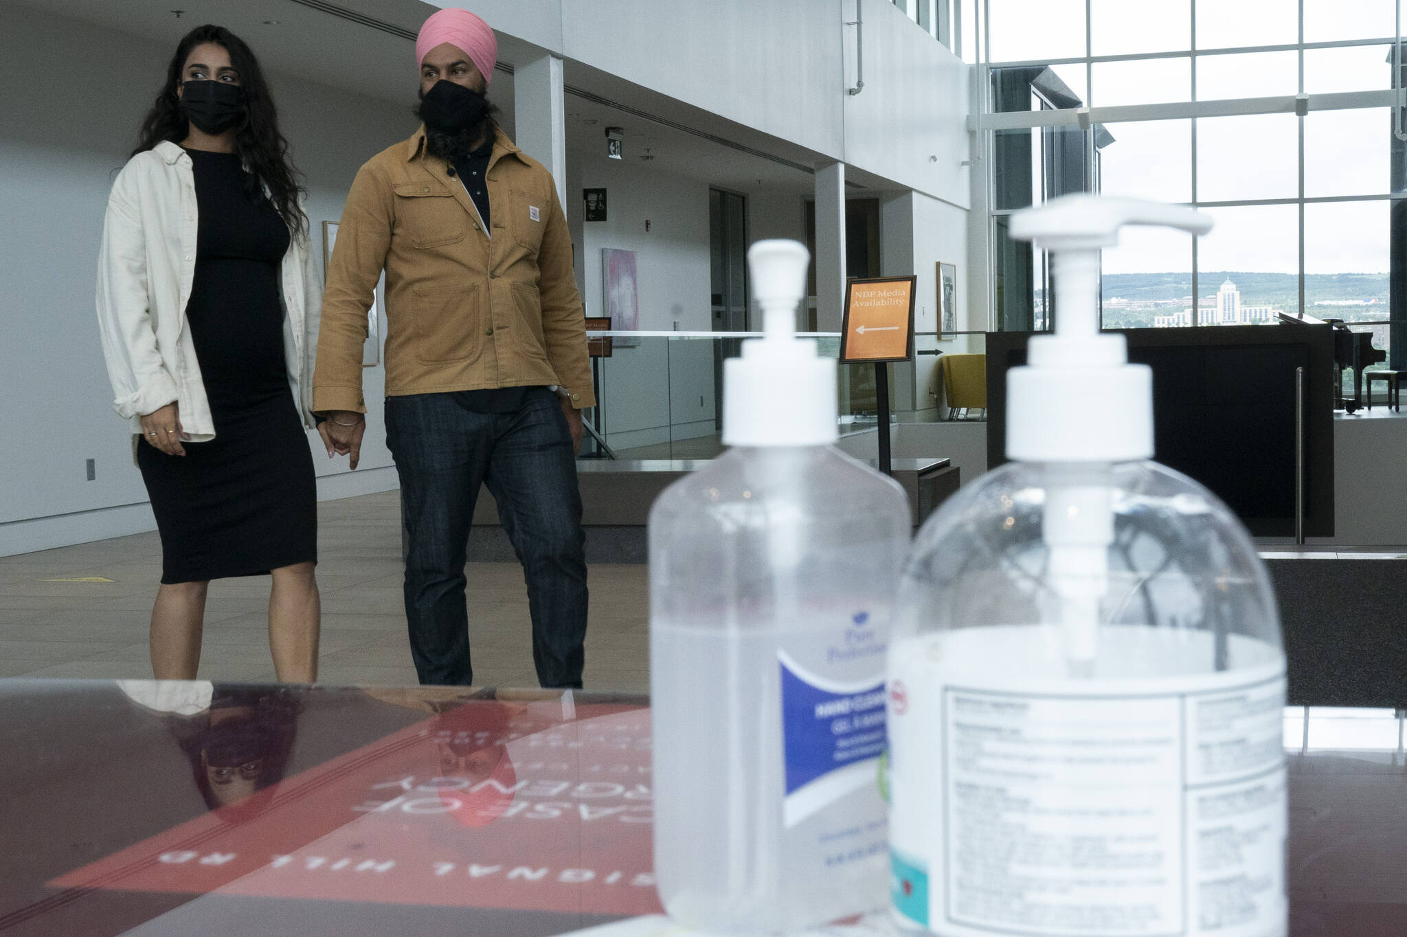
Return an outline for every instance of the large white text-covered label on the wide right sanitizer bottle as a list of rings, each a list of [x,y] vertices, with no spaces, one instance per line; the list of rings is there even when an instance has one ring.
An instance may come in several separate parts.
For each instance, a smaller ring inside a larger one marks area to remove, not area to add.
[[[895,656],[902,917],[954,937],[1283,933],[1283,659],[1144,693],[933,676]]]

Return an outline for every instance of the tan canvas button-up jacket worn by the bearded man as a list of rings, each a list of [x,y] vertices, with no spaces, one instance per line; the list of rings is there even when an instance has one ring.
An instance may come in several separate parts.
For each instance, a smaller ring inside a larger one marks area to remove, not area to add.
[[[425,128],[356,174],[322,301],[312,409],[366,412],[362,346],[386,270],[386,395],[559,385],[595,405],[571,237],[552,174],[502,132],[491,230]]]

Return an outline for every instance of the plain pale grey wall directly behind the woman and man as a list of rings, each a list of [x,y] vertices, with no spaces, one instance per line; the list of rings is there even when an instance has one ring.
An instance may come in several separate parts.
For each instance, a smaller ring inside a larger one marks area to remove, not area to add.
[[[82,49],[82,67],[58,67],[56,49]],[[0,555],[153,527],[127,423],[111,407],[93,292],[107,194],[170,53],[128,35],[0,6],[0,257],[7,294]],[[342,214],[356,169],[408,136],[414,121],[405,107],[279,74],[270,81],[283,131],[307,174],[321,261],[321,222]],[[381,369],[369,368],[371,428],[355,478],[346,459],[329,462],[321,443],[314,447],[324,497],[395,486],[381,388]],[[93,482],[84,472],[90,458]]]

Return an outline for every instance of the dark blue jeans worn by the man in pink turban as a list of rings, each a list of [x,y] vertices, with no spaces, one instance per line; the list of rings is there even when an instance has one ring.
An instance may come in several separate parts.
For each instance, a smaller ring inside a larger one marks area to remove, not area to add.
[[[528,582],[532,657],[543,687],[580,687],[587,559],[571,433],[557,395],[528,392],[512,413],[476,413],[461,393],[386,399],[386,441],[409,535],[405,618],[422,684],[469,686],[464,553],[480,483],[498,502]]]

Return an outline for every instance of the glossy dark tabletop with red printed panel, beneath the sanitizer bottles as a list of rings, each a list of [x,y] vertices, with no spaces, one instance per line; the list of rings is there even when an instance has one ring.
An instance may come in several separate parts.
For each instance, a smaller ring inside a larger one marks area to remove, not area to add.
[[[1290,933],[1404,936],[1403,726],[1310,722]],[[649,733],[637,697],[0,680],[0,934],[526,937],[657,913]]]

